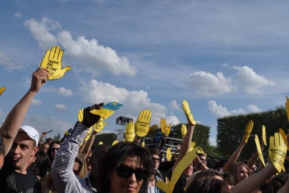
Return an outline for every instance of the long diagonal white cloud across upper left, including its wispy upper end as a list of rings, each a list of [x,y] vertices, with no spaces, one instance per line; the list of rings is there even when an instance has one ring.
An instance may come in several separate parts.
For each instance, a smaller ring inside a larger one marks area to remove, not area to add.
[[[97,39],[88,40],[84,36],[73,39],[72,34],[67,30],[62,30],[58,22],[48,18],[43,18],[41,21],[30,19],[25,21],[25,26],[29,28],[43,49],[50,49],[52,45],[60,43],[65,52],[80,60],[83,65],[82,71],[98,75],[100,70],[106,69],[114,75],[123,74],[129,77],[137,73],[127,57],[121,57],[112,48],[100,45]],[[51,30],[55,29],[59,30],[57,35],[51,33]]]

